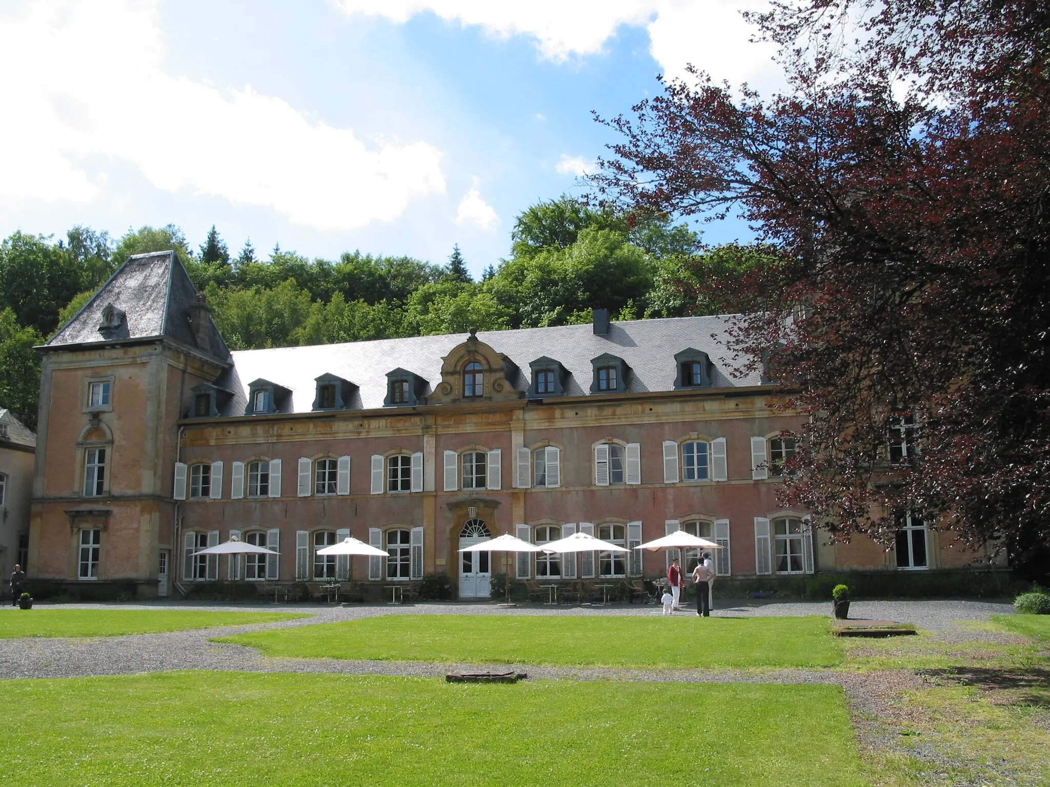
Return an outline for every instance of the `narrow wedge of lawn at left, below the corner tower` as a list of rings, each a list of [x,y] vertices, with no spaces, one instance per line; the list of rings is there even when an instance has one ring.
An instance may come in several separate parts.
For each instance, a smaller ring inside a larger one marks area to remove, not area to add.
[[[121,634],[158,634],[216,625],[269,623],[302,617],[309,615],[200,610],[9,610],[0,613],[0,638],[116,637]]]

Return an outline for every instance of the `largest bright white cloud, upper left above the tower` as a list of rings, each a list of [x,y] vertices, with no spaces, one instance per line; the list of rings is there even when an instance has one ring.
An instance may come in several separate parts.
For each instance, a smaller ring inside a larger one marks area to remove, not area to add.
[[[0,16],[0,203],[89,203],[92,167],[127,162],[165,191],[350,230],[443,194],[441,152],[366,143],[246,85],[164,71],[155,0],[54,0]],[[12,111],[17,107],[17,114]]]

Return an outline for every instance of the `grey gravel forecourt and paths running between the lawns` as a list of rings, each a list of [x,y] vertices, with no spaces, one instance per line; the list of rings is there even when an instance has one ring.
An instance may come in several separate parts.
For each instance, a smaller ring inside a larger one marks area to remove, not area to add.
[[[48,604],[39,604],[47,609]],[[56,605],[57,607],[57,605]],[[273,659],[243,645],[210,642],[216,636],[269,629],[316,625],[354,620],[377,615],[554,615],[624,616],[658,615],[658,608],[643,605],[518,607],[504,609],[478,603],[420,603],[416,605],[307,607],[302,604],[242,604],[155,602],[142,604],[62,604],[65,609],[158,609],[246,612],[304,612],[313,617],[252,625],[197,629],[165,634],[136,634],[98,638],[0,639],[0,677],[74,678],[91,675],[128,675],[169,669],[238,669],[248,672],[342,673],[400,676],[439,676],[447,672],[480,672],[487,668],[518,668],[529,677],[574,680],[644,680],[688,682],[774,682],[838,683],[857,679],[832,669],[613,669],[597,667],[555,667],[536,665],[434,664],[423,662],[350,661],[335,659]],[[766,615],[826,615],[827,602],[732,601],[720,599],[716,617]],[[6,608],[0,614],[21,614]],[[1006,602],[987,601],[860,601],[850,609],[850,617],[890,619],[910,622],[922,629],[958,631],[953,621],[986,620],[991,615],[1007,614]],[[680,613],[692,616],[692,613]],[[894,673],[895,671],[887,671]],[[910,673],[908,674],[910,675]],[[884,675],[884,680],[894,679]],[[897,680],[902,680],[898,676]],[[853,693],[850,693],[853,694]]]

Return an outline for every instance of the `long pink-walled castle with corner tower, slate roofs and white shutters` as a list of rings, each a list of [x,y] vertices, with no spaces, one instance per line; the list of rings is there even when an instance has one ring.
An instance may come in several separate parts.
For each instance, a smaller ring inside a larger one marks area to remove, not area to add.
[[[30,577],[260,587],[446,572],[461,598],[664,574],[669,553],[507,556],[511,533],[627,548],[679,527],[720,577],[926,570],[971,556],[918,516],[896,549],[827,544],[776,489],[797,416],[730,373],[731,317],[230,352],[177,257],[131,257],[41,348]],[[327,558],[354,535],[390,558]],[[231,536],[271,557],[204,557]],[[695,554],[682,556],[691,569]]]

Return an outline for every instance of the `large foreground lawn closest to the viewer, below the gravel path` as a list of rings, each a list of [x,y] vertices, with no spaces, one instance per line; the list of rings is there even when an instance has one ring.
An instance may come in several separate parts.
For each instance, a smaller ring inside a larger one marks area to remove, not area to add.
[[[0,681],[0,772],[33,785],[865,784],[826,685],[202,672]]]

